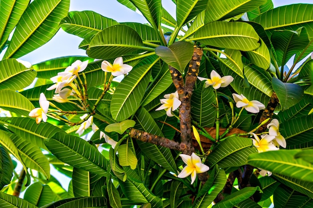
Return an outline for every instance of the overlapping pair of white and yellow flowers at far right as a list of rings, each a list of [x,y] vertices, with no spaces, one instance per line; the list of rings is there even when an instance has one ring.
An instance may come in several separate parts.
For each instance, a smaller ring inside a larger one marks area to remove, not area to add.
[[[279,146],[286,148],[286,140],[279,133],[279,123],[277,119],[271,120],[267,124],[268,134],[262,134],[261,139],[254,133],[251,133],[254,137],[252,139],[254,147],[256,147],[259,153],[270,150],[279,150]]]

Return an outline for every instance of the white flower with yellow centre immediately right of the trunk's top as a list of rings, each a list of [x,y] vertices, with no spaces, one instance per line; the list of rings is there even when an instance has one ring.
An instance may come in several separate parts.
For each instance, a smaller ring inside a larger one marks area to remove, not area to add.
[[[210,77],[211,77],[210,79],[207,79],[198,76],[198,79],[200,81],[205,80],[205,88],[212,85],[215,90],[218,89],[219,87],[228,86],[230,82],[232,82],[233,80],[232,76],[230,75],[220,77],[220,75],[214,70],[211,71]]]

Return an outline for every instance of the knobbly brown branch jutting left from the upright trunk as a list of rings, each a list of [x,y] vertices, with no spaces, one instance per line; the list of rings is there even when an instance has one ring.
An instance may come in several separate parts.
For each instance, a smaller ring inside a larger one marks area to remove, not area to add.
[[[181,144],[179,144],[178,142],[166,139],[164,137],[159,137],[144,131],[130,129],[128,135],[129,137],[140,140],[141,142],[148,142],[151,144],[160,145],[180,152],[183,152],[185,150],[185,146],[184,145],[181,146]]]

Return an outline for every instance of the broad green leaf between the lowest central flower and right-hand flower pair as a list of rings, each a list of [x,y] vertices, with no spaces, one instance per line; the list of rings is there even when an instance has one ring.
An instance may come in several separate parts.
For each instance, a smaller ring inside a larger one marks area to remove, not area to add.
[[[250,148],[251,146],[252,141],[249,138],[229,137],[220,142],[208,155],[208,166],[218,164],[219,168],[227,168],[245,165],[248,156],[256,152],[255,148]]]

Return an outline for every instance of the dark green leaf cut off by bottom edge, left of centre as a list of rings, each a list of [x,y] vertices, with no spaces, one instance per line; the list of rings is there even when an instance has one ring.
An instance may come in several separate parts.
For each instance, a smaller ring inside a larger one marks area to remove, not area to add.
[[[82,197],[64,199],[41,208],[106,208],[104,197]]]

